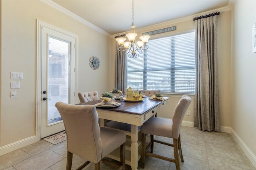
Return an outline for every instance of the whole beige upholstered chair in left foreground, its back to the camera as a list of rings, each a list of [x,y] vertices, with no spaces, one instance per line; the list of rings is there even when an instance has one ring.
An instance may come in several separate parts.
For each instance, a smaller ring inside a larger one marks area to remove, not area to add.
[[[94,105],[70,105],[57,102],[56,108],[62,117],[67,135],[66,170],[71,170],[73,154],[87,161],[78,169],[81,170],[94,162],[95,170],[100,169],[100,161],[125,170],[126,134],[117,130],[100,127],[98,113]],[[105,159],[108,154],[120,147],[120,164],[113,164]]]

